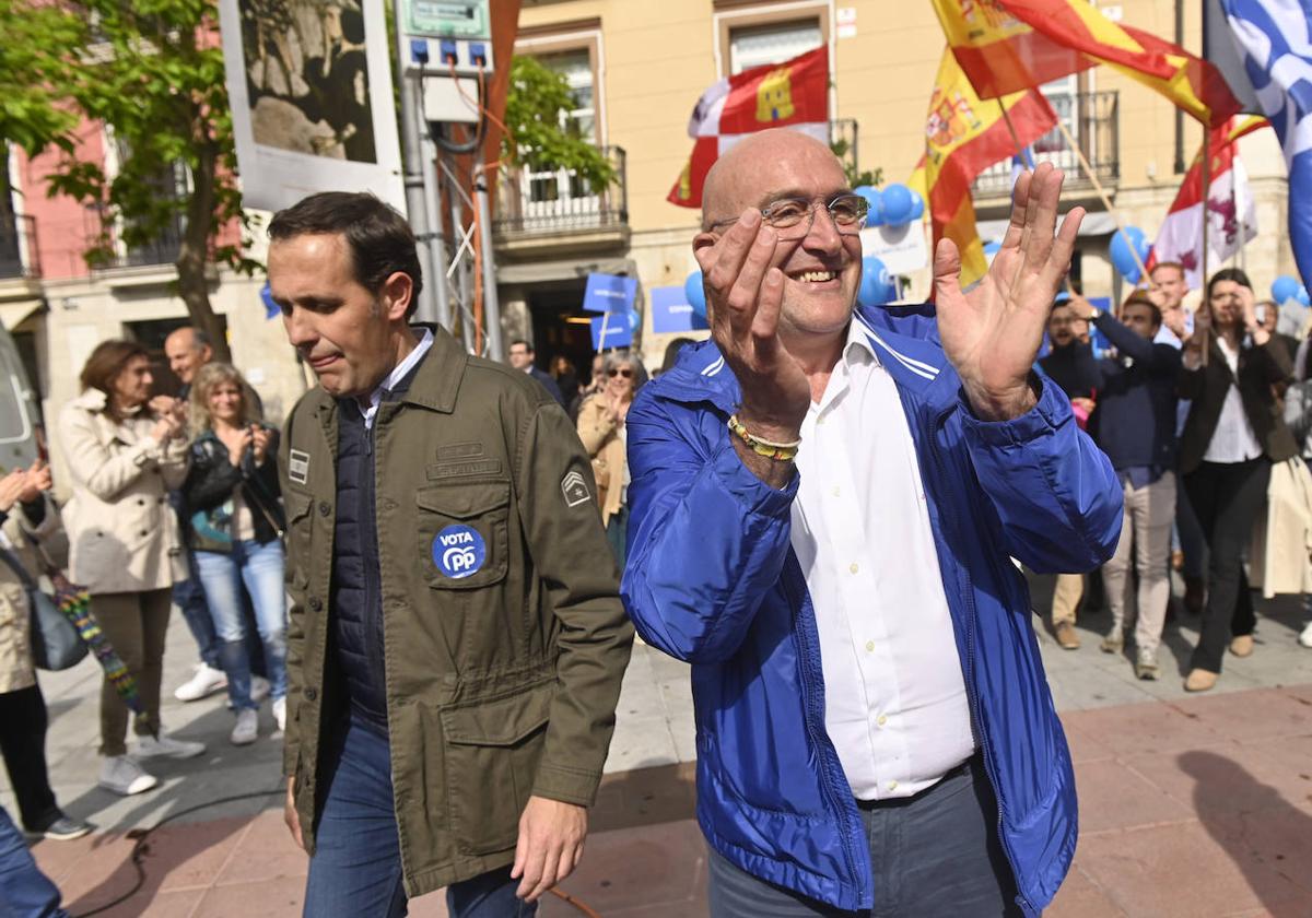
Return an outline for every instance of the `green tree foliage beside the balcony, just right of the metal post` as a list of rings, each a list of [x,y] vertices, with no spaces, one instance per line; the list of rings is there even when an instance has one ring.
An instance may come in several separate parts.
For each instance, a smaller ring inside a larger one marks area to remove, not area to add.
[[[510,60],[510,89],[505,100],[502,155],[512,165],[534,170],[569,169],[600,194],[615,181],[615,167],[563,114],[576,108],[562,73],[535,58]]]

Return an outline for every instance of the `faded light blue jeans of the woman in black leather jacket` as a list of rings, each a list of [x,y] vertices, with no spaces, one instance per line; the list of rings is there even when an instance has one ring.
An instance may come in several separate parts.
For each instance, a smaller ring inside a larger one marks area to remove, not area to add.
[[[237,711],[258,707],[251,700],[251,654],[247,652],[243,585],[255,607],[264,645],[269,694],[287,694],[287,599],[282,544],[274,539],[235,542],[231,552],[195,552],[195,567],[220,640],[228,698]]]

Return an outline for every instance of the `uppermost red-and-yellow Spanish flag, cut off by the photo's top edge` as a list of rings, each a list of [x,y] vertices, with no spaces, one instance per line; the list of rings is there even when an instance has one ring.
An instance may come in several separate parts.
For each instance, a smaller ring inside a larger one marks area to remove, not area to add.
[[[1240,110],[1220,71],[1088,0],[933,0],[943,33],[985,98],[1107,64],[1219,127]]]

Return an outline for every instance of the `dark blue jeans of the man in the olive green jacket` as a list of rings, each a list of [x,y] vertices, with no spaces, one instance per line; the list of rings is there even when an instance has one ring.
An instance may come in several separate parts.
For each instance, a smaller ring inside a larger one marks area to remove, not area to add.
[[[407,914],[387,737],[359,721],[337,728],[327,792],[306,880],[304,918],[400,918]],[[446,889],[451,918],[533,918],[502,867]]]

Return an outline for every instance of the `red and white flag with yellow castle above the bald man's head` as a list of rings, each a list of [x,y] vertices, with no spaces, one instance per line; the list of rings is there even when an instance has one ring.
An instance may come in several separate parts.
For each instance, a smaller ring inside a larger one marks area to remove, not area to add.
[[[724,77],[697,100],[687,134],[693,155],[666,201],[681,207],[702,206],[706,173],[747,134],[768,127],[791,127],[829,142],[829,52],[824,47],[782,64],[753,67]]]

